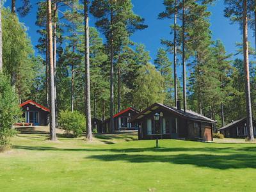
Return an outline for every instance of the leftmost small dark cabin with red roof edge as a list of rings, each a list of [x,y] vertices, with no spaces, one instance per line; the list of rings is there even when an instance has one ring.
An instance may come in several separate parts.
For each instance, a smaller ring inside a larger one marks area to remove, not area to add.
[[[20,104],[20,108],[24,111],[23,117],[25,118],[25,123],[29,125],[48,125],[49,109],[33,100],[23,102]]]

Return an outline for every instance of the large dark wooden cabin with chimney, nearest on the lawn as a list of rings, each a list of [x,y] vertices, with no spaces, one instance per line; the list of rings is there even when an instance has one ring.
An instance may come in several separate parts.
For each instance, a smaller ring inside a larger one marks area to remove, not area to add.
[[[180,102],[178,104],[180,106]],[[155,120],[154,115],[159,115]],[[212,129],[216,121],[194,111],[155,103],[131,119],[139,125],[139,140],[189,139],[212,141]]]

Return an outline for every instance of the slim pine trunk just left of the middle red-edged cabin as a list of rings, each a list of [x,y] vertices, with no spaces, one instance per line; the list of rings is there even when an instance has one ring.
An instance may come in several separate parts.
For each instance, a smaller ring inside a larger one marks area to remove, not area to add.
[[[111,9],[111,28],[113,26],[113,10]],[[111,29],[110,32],[110,130],[111,132],[115,132],[115,127],[114,127],[114,47],[113,47],[113,31]]]

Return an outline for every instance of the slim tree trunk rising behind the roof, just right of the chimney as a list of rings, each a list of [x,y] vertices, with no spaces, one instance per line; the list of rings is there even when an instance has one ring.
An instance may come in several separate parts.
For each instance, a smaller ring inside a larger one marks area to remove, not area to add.
[[[187,95],[186,95],[186,63],[185,63],[185,1],[182,1],[182,67],[183,67],[183,108],[186,112]]]

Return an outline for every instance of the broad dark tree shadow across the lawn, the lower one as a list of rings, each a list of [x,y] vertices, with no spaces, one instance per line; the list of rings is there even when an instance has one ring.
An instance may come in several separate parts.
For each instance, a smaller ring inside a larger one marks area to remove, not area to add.
[[[198,167],[207,167],[220,170],[230,168],[256,168],[256,155],[250,154],[179,154],[179,155],[141,155],[141,154],[109,154],[86,157],[100,161],[127,161],[130,163],[172,163],[191,164]]]

